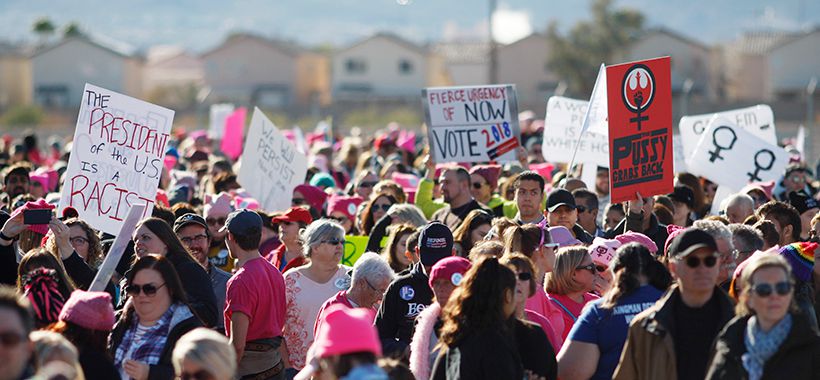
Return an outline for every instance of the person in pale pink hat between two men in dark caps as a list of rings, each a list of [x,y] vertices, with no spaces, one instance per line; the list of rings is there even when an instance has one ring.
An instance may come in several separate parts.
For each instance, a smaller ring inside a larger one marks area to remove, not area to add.
[[[228,193],[219,193],[216,196],[205,196],[205,206],[202,214],[208,223],[208,231],[211,237],[211,245],[208,250],[208,260],[219,269],[231,273],[233,271],[233,259],[228,255],[228,248],[225,246],[226,232],[220,231],[225,225],[228,214],[233,211],[231,196]]]

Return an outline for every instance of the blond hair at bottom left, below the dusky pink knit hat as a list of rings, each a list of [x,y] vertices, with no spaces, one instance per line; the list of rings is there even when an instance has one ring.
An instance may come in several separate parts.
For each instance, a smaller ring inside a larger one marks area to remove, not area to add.
[[[79,354],[77,348],[68,341],[62,334],[53,331],[32,331],[29,334],[34,343],[35,357],[37,358],[38,374],[40,370],[51,373],[58,372],[68,379],[85,380],[83,369],[80,367]],[[66,365],[51,364],[63,362]],[[74,377],[64,372],[66,367],[74,369]],[[48,377],[45,377],[48,378]]]

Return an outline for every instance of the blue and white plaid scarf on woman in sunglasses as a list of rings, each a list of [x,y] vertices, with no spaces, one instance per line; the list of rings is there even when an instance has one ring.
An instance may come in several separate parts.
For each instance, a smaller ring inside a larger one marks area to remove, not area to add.
[[[139,342],[134,341],[137,326],[139,326],[139,317],[134,313],[134,320],[131,322],[131,326],[128,327],[128,330],[126,330],[125,335],[122,337],[122,342],[117,347],[117,351],[114,355],[114,365],[116,368],[122,368],[123,362],[126,359],[140,361],[149,365],[159,363],[160,356],[165,348],[165,342],[168,339],[168,333],[171,331],[171,320],[179,306],[180,305],[172,304],[171,307],[165,311],[165,314],[159,318],[157,323],[143,334]],[[139,344],[139,346],[134,350],[130,358],[126,358],[125,355],[132,344]]]

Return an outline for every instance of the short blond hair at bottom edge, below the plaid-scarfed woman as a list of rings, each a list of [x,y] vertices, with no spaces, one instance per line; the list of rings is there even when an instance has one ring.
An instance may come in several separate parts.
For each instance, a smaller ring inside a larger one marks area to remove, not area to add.
[[[218,380],[236,376],[236,351],[228,338],[211,329],[195,328],[177,341],[171,355],[177,376],[182,374],[185,360],[195,362]]]

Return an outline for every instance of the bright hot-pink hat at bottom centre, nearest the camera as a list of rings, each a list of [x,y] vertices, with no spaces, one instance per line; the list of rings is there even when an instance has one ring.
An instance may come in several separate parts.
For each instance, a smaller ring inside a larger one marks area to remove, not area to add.
[[[311,347],[313,357],[326,358],[353,352],[372,352],[381,356],[382,345],[373,326],[374,319],[373,311],[366,308],[331,306],[325,322],[316,332]]]

